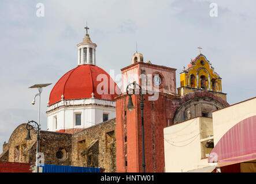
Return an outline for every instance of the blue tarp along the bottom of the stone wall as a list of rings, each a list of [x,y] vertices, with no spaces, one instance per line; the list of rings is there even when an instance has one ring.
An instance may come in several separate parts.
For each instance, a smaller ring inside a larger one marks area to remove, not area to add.
[[[101,173],[100,168],[44,164],[43,173]]]

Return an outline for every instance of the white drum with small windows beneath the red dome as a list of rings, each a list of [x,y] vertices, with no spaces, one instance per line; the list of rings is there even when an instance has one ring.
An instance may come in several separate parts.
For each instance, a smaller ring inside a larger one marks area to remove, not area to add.
[[[94,104],[95,102],[99,105]],[[115,106],[116,103],[114,101],[101,99],[64,100],[58,102],[48,107],[47,129],[48,131],[60,131],[61,129],[91,127],[103,122],[103,113],[109,114],[109,120],[115,118]],[[81,125],[77,126],[75,125],[76,113],[81,113]],[[57,117],[57,129],[55,129],[54,117]]]

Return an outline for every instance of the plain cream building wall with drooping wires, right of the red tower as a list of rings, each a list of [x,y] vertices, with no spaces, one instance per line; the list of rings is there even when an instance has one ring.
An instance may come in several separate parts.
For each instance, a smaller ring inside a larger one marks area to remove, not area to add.
[[[183,173],[210,166],[201,153],[202,120],[202,117],[197,117],[164,128],[166,173]]]

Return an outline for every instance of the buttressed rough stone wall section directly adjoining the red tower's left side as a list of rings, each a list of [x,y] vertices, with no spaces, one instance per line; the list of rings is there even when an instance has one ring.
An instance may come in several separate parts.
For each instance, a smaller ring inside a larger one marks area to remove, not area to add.
[[[72,135],[72,166],[116,172],[116,118]]]

